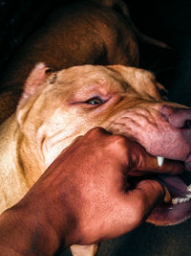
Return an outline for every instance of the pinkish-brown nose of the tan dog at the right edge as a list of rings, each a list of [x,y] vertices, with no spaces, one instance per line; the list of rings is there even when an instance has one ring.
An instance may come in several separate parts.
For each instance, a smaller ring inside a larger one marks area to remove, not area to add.
[[[160,112],[172,126],[191,129],[191,108],[162,105]]]

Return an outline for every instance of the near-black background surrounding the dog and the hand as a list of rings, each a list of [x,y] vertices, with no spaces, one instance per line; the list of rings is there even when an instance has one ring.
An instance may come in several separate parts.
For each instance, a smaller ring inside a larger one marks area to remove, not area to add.
[[[43,25],[46,16],[67,2],[0,0],[0,75],[22,43]],[[171,101],[191,106],[191,0],[126,2],[138,30],[171,47],[164,51],[140,44],[140,67],[156,74],[168,89]],[[190,182],[190,175],[186,177]],[[170,227],[144,223],[125,236],[102,243],[97,254],[191,256],[191,221]],[[70,251],[62,255],[70,255]]]

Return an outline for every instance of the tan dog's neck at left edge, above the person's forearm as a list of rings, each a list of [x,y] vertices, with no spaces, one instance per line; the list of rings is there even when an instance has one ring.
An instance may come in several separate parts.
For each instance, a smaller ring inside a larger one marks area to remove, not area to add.
[[[0,140],[0,212],[2,212],[23,198],[44,170],[38,166],[31,149],[26,152],[28,143],[16,122],[15,115],[1,126]],[[26,161],[28,158],[29,161]]]

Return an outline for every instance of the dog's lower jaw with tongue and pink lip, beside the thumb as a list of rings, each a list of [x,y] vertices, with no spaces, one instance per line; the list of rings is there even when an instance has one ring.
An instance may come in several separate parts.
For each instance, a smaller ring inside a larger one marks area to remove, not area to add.
[[[168,203],[157,205],[147,221],[156,225],[174,225],[191,217],[191,185],[186,185],[179,176],[158,175],[171,195]]]

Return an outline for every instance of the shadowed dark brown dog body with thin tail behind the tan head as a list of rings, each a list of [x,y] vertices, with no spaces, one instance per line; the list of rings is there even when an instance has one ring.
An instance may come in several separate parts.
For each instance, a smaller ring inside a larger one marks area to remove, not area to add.
[[[0,123],[14,112],[35,63],[44,61],[53,70],[81,64],[138,66],[137,38],[166,47],[138,32],[121,0],[72,1],[55,10],[1,74]]]

